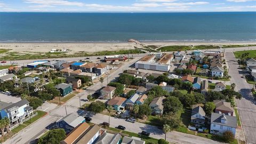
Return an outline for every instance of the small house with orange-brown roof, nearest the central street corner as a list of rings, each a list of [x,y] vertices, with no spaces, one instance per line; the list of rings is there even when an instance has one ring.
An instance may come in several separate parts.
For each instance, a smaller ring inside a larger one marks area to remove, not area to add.
[[[114,97],[108,101],[107,105],[112,106],[115,110],[123,110],[125,108],[124,104],[126,100],[127,99],[122,97]]]

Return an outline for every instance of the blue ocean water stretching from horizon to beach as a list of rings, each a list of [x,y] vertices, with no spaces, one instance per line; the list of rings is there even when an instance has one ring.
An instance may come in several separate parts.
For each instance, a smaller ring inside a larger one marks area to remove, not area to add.
[[[256,41],[256,12],[0,13],[0,41]]]

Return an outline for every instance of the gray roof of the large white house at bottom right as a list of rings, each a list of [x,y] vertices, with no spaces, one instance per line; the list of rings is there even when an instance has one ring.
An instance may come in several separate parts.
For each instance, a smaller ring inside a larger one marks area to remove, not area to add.
[[[221,123],[221,118],[226,118],[226,123]],[[237,127],[237,120],[235,116],[228,116],[218,113],[212,113],[211,115],[211,124],[218,124],[229,127]]]

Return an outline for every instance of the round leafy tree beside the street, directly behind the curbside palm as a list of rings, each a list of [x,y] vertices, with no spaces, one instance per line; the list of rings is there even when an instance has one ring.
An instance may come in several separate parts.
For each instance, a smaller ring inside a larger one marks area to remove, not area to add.
[[[180,116],[172,112],[166,113],[163,115],[161,123],[169,125],[171,130],[177,129],[181,124]]]

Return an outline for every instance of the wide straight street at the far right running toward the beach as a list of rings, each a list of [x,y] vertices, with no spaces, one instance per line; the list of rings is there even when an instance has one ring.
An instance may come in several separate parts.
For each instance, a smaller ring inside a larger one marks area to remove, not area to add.
[[[230,83],[236,84],[236,90],[243,95],[241,100],[236,100],[239,115],[242,122],[247,143],[256,143],[256,101],[253,99],[251,89],[253,85],[248,84],[242,70],[238,69],[237,59],[233,52],[226,52],[226,61],[229,65]]]

